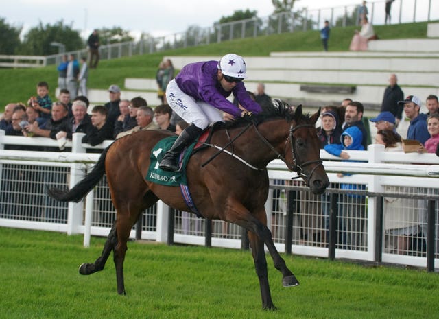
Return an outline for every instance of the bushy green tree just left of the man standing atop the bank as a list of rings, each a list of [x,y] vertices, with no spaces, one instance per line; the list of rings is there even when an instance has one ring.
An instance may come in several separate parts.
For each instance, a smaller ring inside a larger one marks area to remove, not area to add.
[[[71,26],[64,25],[58,21],[54,25],[43,25],[40,22],[38,27],[33,27],[25,34],[21,54],[36,56],[48,56],[58,54],[58,48],[50,45],[51,42],[58,42],[65,45],[66,51],[84,49],[85,44],[80,33],[73,30]]]

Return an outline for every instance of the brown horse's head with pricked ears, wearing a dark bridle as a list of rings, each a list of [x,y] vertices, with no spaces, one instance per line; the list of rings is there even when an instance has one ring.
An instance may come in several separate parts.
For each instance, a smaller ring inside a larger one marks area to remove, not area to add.
[[[320,108],[311,117],[302,114],[302,106],[296,108],[285,152],[288,168],[297,172],[313,193],[323,193],[329,186],[329,179],[320,159],[320,141],[316,130],[319,115]]]

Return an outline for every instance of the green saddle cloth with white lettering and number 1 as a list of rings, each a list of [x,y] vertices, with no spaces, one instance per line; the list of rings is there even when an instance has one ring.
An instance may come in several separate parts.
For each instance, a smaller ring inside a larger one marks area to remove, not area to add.
[[[148,168],[147,175],[145,176],[146,180],[165,186],[187,185],[186,165],[189,161],[189,157],[191,157],[195,143],[189,145],[189,147],[187,147],[187,149],[184,151],[181,165],[182,168],[180,169],[180,172],[168,172],[158,168],[163,156],[167,150],[174,145],[176,139],[177,137],[167,137],[166,139],[158,141],[158,143],[152,148],[150,155],[150,167]],[[181,161],[181,154],[179,159]]]

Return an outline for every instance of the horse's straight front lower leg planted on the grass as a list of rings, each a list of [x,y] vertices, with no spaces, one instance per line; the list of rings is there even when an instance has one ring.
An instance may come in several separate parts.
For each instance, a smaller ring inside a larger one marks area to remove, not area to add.
[[[265,259],[263,241],[261,241],[256,234],[250,231],[248,232],[248,240],[250,241],[250,247],[252,248],[254,268],[259,279],[262,308],[275,310],[276,307],[273,304],[270,293],[270,284],[268,283],[267,259]]]

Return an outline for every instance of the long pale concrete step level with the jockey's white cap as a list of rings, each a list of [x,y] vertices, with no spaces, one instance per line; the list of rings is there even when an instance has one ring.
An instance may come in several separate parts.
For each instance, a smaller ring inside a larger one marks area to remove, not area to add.
[[[176,69],[185,64],[213,57],[170,56]],[[250,80],[260,82],[298,82],[331,84],[387,85],[390,73],[398,75],[399,84],[438,87],[437,58],[362,58],[343,57],[249,57],[246,58]]]

